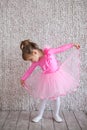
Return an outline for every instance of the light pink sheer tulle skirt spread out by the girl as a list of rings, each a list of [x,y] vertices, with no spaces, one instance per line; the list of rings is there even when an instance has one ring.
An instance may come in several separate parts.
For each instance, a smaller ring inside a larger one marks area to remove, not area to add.
[[[59,70],[48,74],[38,71],[25,81],[24,87],[35,99],[53,100],[77,90],[79,70],[79,50],[74,50],[60,65]]]

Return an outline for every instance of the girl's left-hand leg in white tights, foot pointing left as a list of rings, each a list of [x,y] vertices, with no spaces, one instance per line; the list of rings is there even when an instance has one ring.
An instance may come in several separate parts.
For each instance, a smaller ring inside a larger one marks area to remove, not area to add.
[[[38,116],[32,119],[33,122],[39,122],[42,119],[46,103],[47,103],[47,99],[44,99],[40,105]]]

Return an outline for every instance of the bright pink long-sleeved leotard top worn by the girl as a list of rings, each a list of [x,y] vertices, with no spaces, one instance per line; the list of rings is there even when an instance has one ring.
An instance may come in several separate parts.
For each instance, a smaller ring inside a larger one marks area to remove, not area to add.
[[[26,80],[36,66],[40,66],[44,73],[52,73],[58,70],[58,62],[53,54],[57,54],[63,51],[66,51],[73,47],[72,43],[62,45],[58,48],[45,48],[43,50],[44,56],[39,59],[37,62],[33,62],[29,69],[22,76],[22,80]]]

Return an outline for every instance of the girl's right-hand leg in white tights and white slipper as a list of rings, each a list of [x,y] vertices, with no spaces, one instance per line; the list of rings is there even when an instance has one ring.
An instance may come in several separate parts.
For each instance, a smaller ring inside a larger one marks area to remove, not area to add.
[[[55,110],[53,113],[53,117],[57,122],[62,122],[62,118],[59,116],[59,110],[60,110],[60,97],[58,97],[55,101]]]

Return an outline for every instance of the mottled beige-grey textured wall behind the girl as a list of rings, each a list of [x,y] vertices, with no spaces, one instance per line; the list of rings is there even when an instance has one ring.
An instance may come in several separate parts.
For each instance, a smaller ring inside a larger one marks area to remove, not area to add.
[[[41,47],[80,43],[80,86],[61,99],[61,109],[87,111],[86,15],[86,0],[0,0],[0,109],[37,107],[20,85],[29,63],[22,60],[19,45],[29,38]]]

